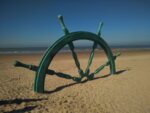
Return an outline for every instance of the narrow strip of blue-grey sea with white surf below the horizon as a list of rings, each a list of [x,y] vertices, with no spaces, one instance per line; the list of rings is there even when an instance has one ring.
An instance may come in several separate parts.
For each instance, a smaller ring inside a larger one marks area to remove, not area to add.
[[[110,46],[111,49],[121,49],[121,50],[150,50],[150,45],[145,46]],[[43,54],[48,47],[23,47],[23,48],[0,48],[0,55],[2,54]],[[76,47],[76,51],[89,51],[91,47]],[[101,48],[98,48],[101,50]],[[69,52],[68,47],[64,47],[60,52]]]

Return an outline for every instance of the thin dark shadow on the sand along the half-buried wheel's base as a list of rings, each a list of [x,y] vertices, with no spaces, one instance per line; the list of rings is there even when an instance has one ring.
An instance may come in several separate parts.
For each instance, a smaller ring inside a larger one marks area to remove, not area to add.
[[[116,74],[117,75],[119,75],[119,74],[121,74],[121,73],[123,73],[123,72],[125,72],[126,70],[119,70],[119,71],[117,71],[116,72]],[[68,74],[64,74],[64,73],[61,73],[62,74],[62,76],[63,75],[67,75],[68,76]],[[61,90],[63,90],[64,88],[67,88],[67,87],[71,87],[71,86],[73,86],[73,85],[76,85],[76,84],[83,84],[83,83],[86,83],[87,81],[93,81],[93,80],[96,80],[96,79],[101,79],[101,78],[106,78],[106,77],[109,77],[111,74],[106,74],[106,75],[103,75],[103,76],[100,76],[100,77],[95,77],[95,78],[93,78],[92,80],[84,80],[84,81],[82,81],[82,82],[74,82],[74,83],[70,83],[70,84],[67,84],[67,85],[63,85],[63,86],[59,86],[59,87],[57,87],[57,88],[55,88],[54,90],[52,90],[52,91],[45,91],[45,93],[47,93],[47,94],[52,94],[52,93],[56,93],[56,92],[58,92],[58,91],[61,91]],[[57,76],[57,75],[56,75]],[[69,75],[70,76],[70,75]],[[60,76],[59,76],[60,77]]]

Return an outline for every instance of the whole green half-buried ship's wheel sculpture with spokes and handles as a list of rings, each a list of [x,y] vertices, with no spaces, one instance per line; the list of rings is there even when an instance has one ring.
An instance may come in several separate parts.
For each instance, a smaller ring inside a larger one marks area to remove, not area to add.
[[[65,35],[62,36],[59,40],[57,40],[51,47],[49,47],[46,50],[39,66],[27,65],[27,64],[21,63],[19,61],[15,61],[15,63],[14,63],[14,66],[16,66],[16,67],[28,68],[28,69],[36,72],[36,76],[35,76],[35,80],[34,80],[34,91],[35,92],[44,93],[44,83],[45,83],[46,74],[56,75],[58,77],[62,77],[62,78],[66,78],[66,79],[72,79],[75,82],[81,82],[83,77],[87,77],[87,80],[93,79],[94,75],[98,74],[105,66],[110,67],[110,74],[116,73],[115,59],[117,56],[120,55],[120,53],[118,52],[116,55],[113,56],[112,51],[109,48],[108,44],[101,37],[101,28],[103,26],[103,23],[99,24],[97,34],[85,32],[85,31],[77,31],[77,32],[70,33],[64,24],[63,17],[61,15],[59,15],[58,19],[60,21],[62,30]],[[76,40],[93,41],[92,50],[91,50],[88,64],[87,64],[85,71],[83,71],[81,69],[80,62],[79,62],[77,54],[74,50],[75,47],[74,47],[73,41],[76,41]],[[66,45],[68,45],[71,50],[73,59],[75,61],[75,65],[77,66],[78,73],[80,75],[79,77],[72,77],[71,75],[67,75],[64,73],[57,73],[54,70],[48,69],[54,56],[61,50],[61,48],[63,48]],[[107,55],[108,61],[105,64],[99,66],[94,72],[90,73],[90,66],[92,64],[92,60],[94,57],[94,51],[98,45],[100,45],[101,48],[104,50],[105,54]]]

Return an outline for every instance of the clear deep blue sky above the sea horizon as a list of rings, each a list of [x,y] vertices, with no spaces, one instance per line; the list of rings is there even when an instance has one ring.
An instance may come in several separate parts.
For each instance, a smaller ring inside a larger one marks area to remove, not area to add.
[[[0,0],[0,48],[50,46],[70,32],[96,33],[109,45],[150,45],[150,0]]]

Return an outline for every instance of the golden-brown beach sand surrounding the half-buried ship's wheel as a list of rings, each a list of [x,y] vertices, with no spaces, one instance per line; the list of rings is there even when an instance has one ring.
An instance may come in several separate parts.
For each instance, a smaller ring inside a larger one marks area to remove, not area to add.
[[[89,53],[79,53],[81,67],[86,68]],[[18,59],[38,65],[41,54],[0,55],[0,113],[150,113],[150,51],[122,51],[116,60],[117,74],[109,68],[94,80],[75,83],[57,76],[46,76],[45,93],[32,90],[35,72],[13,66]],[[96,53],[91,71],[107,61]],[[78,76],[68,53],[58,54],[50,69]]]

